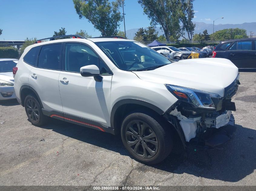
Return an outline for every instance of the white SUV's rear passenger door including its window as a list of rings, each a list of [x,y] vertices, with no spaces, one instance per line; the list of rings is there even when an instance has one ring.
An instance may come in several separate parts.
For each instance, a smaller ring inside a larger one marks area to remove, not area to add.
[[[58,78],[61,70],[63,43],[42,46],[38,62],[30,70],[28,83],[38,93],[43,107],[62,113]]]

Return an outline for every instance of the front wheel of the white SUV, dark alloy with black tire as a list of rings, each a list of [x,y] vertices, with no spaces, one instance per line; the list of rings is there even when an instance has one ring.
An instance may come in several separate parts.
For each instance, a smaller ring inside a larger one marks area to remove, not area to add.
[[[173,147],[170,127],[161,121],[159,116],[147,111],[125,117],[121,138],[134,158],[146,164],[157,164],[170,154]]]

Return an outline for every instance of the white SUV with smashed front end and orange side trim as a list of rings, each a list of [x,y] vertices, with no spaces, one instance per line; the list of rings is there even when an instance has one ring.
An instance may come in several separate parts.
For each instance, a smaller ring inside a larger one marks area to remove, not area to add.
[[[121,134],[148,164],[164,160],[176,137],[184,147],[212,148],[233,135],[239,73],[231,61],[172,62],[134,40],[72,36],[28,46],[14,68],[17,99],[33,125],[52,117]]]

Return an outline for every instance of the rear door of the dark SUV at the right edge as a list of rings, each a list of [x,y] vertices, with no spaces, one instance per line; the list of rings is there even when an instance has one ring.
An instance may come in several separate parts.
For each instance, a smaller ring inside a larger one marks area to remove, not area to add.
[[[229,59],[238,68],[251,68],[253,65],[254,50],[252,41],[236,41],[228,49]]]

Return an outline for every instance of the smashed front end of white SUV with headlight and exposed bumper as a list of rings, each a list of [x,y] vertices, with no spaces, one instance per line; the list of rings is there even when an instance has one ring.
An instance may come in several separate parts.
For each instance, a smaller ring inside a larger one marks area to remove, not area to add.
[[[238,90],[237,78],[226,88],[224,96],[191,88],[165,84],[178,101],[164,114],[177,130],[183,146],[188,143],[205,149],[227,142],[234,134],[235,103],[231,98]]]

